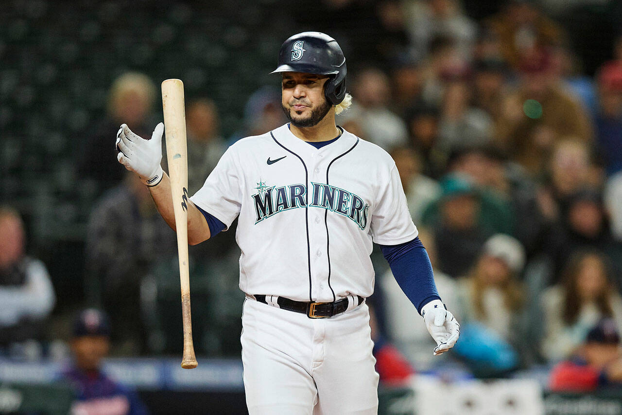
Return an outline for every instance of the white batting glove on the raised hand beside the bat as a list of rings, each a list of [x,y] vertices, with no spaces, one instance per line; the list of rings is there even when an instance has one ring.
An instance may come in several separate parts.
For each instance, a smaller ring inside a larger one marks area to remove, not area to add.
[[[117,160],[126,169],[138,174],[142,183],[156,186],[162,180],[162,133],[164,124],[159,123],[151,135],[145,140],[132,133],[127,124],[121,124],[117,131],[116,148],[119,150]]]

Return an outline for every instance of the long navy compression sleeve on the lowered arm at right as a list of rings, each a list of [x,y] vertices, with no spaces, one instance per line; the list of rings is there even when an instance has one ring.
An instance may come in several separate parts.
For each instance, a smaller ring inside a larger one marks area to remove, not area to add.
[[[425,304],[440,300],[434,284],[432,264],[419,237],[399,245],[381,245],[380,249],[389,262],[397,284],[417,307],[419,314]]]

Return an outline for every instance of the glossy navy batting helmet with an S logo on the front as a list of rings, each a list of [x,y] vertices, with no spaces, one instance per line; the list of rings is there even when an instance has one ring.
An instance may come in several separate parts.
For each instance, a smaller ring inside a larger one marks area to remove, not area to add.
[[[287,39],[279,50],[279,67],[272,74],[278,72],[328,75],[324,94],[333,105],[346,95],[346,59],[337,41],[327,34],[302,32]]]

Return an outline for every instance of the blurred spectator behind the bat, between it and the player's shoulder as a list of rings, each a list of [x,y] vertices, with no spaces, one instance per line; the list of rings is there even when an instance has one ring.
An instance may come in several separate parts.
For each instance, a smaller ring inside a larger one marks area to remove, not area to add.
[[[200,98],[188,102],[186,106],[188,194],[197,193],[225,153],[225,140],[219,135],[219,128],[218,110],[212,100]],[[164,146],[162,153],[164,169],[167,169],[167,164]]]

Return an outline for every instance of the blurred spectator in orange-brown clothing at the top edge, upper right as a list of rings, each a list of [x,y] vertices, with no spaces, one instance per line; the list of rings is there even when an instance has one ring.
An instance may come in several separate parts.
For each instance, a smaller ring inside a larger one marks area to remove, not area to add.
[[[499,37],[504,60],[514,69],[521,67],[526,50],[560,44],[565,36],[562,28],[530,0],[509,0],[486,26]]]

